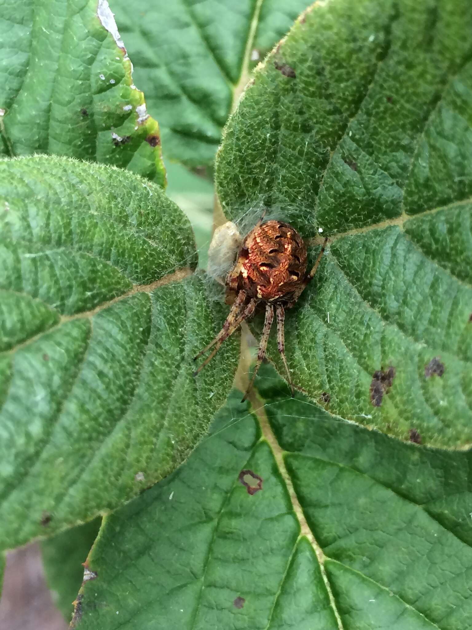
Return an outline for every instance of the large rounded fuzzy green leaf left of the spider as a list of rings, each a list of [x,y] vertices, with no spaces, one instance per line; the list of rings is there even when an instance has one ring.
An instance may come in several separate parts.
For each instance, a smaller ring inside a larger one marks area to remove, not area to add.
[[[225,310],[195,265],[159,186],[72,159],[0,161],[0,549],[115,508],[205,433],[237,340],[192,376]]]

